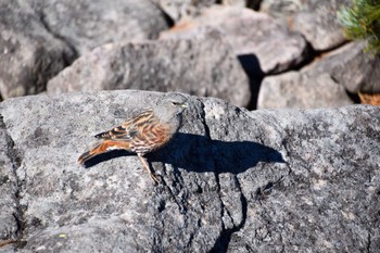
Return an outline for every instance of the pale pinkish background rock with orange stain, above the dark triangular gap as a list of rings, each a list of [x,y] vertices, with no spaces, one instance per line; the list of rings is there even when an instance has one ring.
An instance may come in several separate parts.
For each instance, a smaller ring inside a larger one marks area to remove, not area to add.
[[[201,16],[183,21],[161,39],[202,37],[207,27],[220,30],[238,55],[255,55],[264,73],[278,73],[300,64],[306,54],[306,42],[279,21],[265,13],[237,7],[214,5]]]

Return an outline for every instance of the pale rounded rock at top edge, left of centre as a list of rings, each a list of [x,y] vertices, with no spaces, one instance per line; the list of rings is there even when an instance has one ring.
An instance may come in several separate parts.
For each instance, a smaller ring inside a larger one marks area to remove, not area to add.
[[[79,55],[107,42],[154,39],[168,27],[149,0],[33,0],[31,4],[49,30]]]

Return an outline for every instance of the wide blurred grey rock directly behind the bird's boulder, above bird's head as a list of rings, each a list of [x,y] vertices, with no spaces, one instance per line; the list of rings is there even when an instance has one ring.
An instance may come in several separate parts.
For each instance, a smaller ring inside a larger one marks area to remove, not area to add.
[[[48,84],[49,93],[104,89],[176,90],[240,106],[251,99],[243,68],[217,34],[206,39],[106,45]]]

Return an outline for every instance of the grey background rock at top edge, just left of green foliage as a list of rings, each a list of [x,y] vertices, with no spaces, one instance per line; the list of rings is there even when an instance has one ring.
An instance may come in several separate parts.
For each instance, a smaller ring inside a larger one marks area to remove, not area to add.
[[[345,41],[337,18],[349,0],[264,0],[261,10],[276,16],[290,17],[290,27],[305,36],[317,51],[326,51]]]

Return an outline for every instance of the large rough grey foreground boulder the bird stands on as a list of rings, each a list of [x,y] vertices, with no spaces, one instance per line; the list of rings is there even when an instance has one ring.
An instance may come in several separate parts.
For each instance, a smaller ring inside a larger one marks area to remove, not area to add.
[[[0,202],[0,224],[5,224],[0,236],[14,235],[24,245],[1,250],[380,248],[378,107],[249,112],[189,97],[180,132],[148,156],[161,175],[159,186],[136,155],[113,152],[88,168],[76,164],[91,136],[154,105],[161,96],[103,91],[2,102],[1,172],[11,179],[1,185],[8,203]],[[10,208],[15,201],[16,210]],[[11,213],[20,213],[17,223]]]

